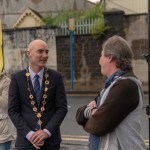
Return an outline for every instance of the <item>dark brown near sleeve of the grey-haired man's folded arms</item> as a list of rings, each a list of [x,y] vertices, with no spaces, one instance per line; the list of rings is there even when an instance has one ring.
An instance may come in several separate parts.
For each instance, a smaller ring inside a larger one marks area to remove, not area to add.
[[[113,131],[139,103],[137,85],[129,80],[119,80],[110,89],[105,102],[86,122],[85,131],[97,136]]]

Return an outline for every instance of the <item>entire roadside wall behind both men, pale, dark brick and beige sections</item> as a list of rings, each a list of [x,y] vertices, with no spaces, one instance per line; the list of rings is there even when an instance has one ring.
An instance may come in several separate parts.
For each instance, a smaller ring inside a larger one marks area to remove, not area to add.
[[[99,90],[102,86],[99,57],[101,45],[106,38],[119,34],[127,39],[134,52],[133,68],[141,81],[147,84],[148,64],[142,54],[147,53],[147,15],[124,16],[124,13],[113,12],[105,14],[110,30],[105,36],[95,39],[92,35],[74,36],[74,89]],[[118,22],[119,21],[119,22]],[[4,30],[4,56],[7,72],[20,70],[28,65],[25,54],[28,43],[42,38],[50,48],[48,66],[62,73],[65,86],[70,90],[70,38],[55,37],[50,27],[20,30]]]

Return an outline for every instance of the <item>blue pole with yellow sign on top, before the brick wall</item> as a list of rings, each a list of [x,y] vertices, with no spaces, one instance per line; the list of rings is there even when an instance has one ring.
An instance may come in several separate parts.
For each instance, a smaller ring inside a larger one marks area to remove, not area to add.
[[[75,31],[75,19],[69,18],[69,33],[70,33],[70,86],[74,88],[74,49],[73,49],[73,33]]]

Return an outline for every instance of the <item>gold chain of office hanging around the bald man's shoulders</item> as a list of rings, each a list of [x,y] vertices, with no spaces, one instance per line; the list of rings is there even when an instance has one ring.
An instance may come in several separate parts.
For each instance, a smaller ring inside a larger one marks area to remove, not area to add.
[[[46,98],[47,98],[47,91],[48,91],[48,84],[49,84],[49,81],[48,81],[48,73],[47,73],[47,68],[45,69],[45,83],[44,83],[44,94],[42,95],[43,97],[43,100],[42,100],[42,105],[41,107],[38,109],[36,106],[35,106],[35,100],[34,100],[34,96],[32,94],[32,90],[31,90],[31,86],[30,86],[30,73],[29,73],[29,70],[27,69],[27,72],[26,72],[26,77],[27,77],[27,83],[28,83],[28,91],[29,91],[29,99],[30,99],[30,102],[31,102],[31,105],[33,107],[33,111],[35,112],[35,115],[37,116],[38,118],[38,122],[37,124],[40,126],[40,129],[41,129],[41,126],[42,126],[42,121],[41,121],[41,117],[43,115],[43,112],[45,110],[45,105],[46,105]]]

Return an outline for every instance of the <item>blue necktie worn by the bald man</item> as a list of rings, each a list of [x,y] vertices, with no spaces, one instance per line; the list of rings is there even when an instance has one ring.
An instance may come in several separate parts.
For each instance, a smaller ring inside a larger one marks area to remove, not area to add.
[[[38,74],[36,74],[34,76],[34,93],[35,93],[36,100],[37,100],[37,103],[39,106],[41,96],[40,96],[40,82],[39,82],[39,75]]]

